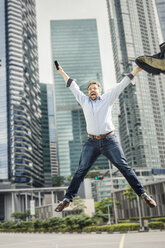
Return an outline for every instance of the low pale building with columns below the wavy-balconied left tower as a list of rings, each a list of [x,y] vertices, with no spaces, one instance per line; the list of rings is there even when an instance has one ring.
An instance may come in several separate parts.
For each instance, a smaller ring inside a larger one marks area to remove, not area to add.
[[[63,199],[66,189],[67,187],[0,189],[0,222],[14,220],[11,217],[14,212],[24,213],[29,210],[31,200],[35,201],[35,208],[41,209],[39,217],[42,217],[45,209],[45,217],[51,217],[55,213],[54,205]],[[51,206],[47,208],[50,203]]]

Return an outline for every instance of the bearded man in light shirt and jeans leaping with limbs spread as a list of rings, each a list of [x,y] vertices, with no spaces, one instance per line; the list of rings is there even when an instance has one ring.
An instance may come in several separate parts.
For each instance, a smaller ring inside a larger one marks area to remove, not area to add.
[[[58,66],[58,72],[63,76],[67,87],[70,88],[83,109],[89,138],[83,146],[79,167],[67,189],[64,200],[56,207],[56,212],[61,212],[73,201],[80,183],[84,180],[87,172],[100,154],[106,156],[118,168],[132,189],[149,207],[156,207],[156,202],[145,192],[135,172],[127,163],[123,150],[116,139],[111,115],[115,100],[124,88],[132,83],[132,79],[141,70],[137,66],[120,83],[116,84],[110,92],[103,95],[101,95],[101,85],[99,82],[91,81],[88,84],[88,96],[86,96],[80,91],[76,82],[64,72],[60,65]]]

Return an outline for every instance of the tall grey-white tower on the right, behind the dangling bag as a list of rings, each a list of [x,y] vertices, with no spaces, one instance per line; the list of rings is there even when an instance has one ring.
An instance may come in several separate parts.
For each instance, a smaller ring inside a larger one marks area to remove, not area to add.
[[[159,52],[153,1],[107,0],[116,78],[140,55]],[[164,75],[141,72],[120,95],[120,138],[132,167],[165,167]]]

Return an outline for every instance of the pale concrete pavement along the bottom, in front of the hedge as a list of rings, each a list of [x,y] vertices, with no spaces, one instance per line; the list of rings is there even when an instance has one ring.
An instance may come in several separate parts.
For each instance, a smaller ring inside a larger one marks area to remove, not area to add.
[[[165,248],[165,231],[113,234],[0,233],[1,248]]]

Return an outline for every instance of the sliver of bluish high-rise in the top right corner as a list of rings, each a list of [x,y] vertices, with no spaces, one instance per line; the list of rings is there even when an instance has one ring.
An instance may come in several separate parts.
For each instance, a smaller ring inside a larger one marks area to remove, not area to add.
[[[162,30],[163,40],[165,41],[165,1],[155,0],[157,13],[160,21],[160,27]]]

